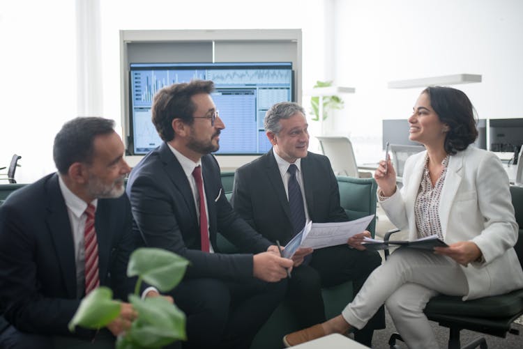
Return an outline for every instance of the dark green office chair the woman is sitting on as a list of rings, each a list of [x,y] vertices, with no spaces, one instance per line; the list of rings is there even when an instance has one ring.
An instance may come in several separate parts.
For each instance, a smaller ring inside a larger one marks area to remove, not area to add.
[[[519,238],[514,248],[517,258],[523,266],[523,187],[510,187],[510,193],[512,194],[516,222],[520,226]],[[391,234],[397,231],[388,232],[384,240],[388,240]],[[386,251],[387,256],[388,251]],[[502,338],[505,338],[507,333],[519,334],[519,331],[514,329],[512,325],[514,320],[523,315],[523,289],[514,290],[505,295],[467,301],[462,301],[461,297],[439,295],[427,303],[424,312],[429,320],[436,321],[440,326],[450,329],[449,349],[472,349],[478,346],[481,349],[486,349],[487,341],[484,337],[467,343],[465,346],[460,346],[460,331],[469,329]],[[397,348],[395,346],[397,339],[401,340],[400,334],[395,333],[391,336],[388,341],[391,348]]]

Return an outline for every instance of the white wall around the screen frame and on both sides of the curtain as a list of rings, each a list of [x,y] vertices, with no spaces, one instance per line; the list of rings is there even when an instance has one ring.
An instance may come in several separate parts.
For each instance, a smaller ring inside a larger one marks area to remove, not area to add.
[[[312,86],[324,79],[324,1],[333,0],[100,0],[102,116],[121,127],[121,29],[301,28],[303,83]],[[0,167],[22,155],[19,183],[54,171],[54,135],[77,116],[75,18],[71,0],[1,2]]]

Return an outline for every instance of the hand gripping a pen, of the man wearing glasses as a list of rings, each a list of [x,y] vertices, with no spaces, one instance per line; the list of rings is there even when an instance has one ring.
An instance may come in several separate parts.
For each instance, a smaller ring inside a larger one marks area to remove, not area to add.
[[[276,256],[273,251],[261,252],[253,256],[253,274],[258,279],[268,282],[280,281],[287,277],[287,268],[293,261],[289,258]]]

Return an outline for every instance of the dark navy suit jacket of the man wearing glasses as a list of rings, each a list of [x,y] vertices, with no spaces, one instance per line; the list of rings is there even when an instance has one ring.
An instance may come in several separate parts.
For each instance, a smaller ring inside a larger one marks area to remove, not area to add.
[[[220,167],[213,155],[202,157],[202,171],[209,210],[209,237],[215,251],[218,231],[242,252],[266,251],[271,242],[252,230],[227,201]],[[167,144],[151,151],[132,169],[127,193],[135,230],[142,234],[147,246],[167,249],[187,258],[190,266],[185,277],[252,277],[252,254],[201,251],[199,220],[189,181]]]

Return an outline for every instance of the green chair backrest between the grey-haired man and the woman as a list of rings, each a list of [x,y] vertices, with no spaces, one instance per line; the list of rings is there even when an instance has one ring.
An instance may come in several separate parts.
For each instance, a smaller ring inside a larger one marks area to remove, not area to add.
[[[340,205],[350,220],[374,215],[367,230],[376,232],[376,191],[378,185],[374,178],[354,178],[337,176],[340,191]]]

